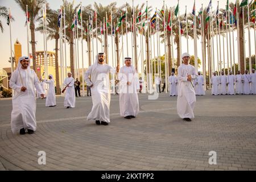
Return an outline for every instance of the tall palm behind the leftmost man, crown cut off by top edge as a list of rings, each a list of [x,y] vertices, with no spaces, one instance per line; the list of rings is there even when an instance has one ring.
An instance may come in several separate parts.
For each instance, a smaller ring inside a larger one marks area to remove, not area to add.
[[[36,71],[36,48],[35,48],[35,23],[40,19],[40,11],[42,7],[48,4],[46,0],[15,0],[16,3],[26,14],[26,5],[28,6],[28,13],[30,14],[30,31],[31,31],[31,45],[32,45],[32,57],[33,57],[33,69]]]

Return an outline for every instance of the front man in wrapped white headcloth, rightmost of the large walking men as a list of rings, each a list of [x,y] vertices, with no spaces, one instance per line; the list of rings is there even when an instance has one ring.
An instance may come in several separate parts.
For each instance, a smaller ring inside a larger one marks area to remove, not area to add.
[[[189,122],[191,121],[190,118],[195,118],[193,109],[196,104],[196,93],[192,81],[197,78],[197,75],[195,67],[188,64],[190,59],[189,53],[183,53],[181,58],[183,64],[179,66],[177,71],[179,81],[177,113],[180,118]]]

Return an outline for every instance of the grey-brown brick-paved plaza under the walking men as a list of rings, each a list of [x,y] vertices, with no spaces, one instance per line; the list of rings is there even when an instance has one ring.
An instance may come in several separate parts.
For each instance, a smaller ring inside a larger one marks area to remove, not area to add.
[[[110,125],[86,121],[90,97],[65,109],[37,100],[35,134],[11,133],[11,100],[0,100],[0,170],[256,170],[256,96],[197,96],[195,119],[176,111],[177,97],[139,94],[141,112],[128,120],[112,96]],[[46,164],[39,165],[39,151]],[[217,164],[209,164],[210,151]]]

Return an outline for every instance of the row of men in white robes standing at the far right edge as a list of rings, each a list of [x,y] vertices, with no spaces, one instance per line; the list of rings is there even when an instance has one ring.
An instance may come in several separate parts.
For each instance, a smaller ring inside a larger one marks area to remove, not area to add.
[[[232,72],[226,76],[223,71],[217,76],[214,72],[211,82],[213,95],[256,94],[255,69],[252,69],[251,74],[246,70],[243,75],[238,71],[236,76]]]

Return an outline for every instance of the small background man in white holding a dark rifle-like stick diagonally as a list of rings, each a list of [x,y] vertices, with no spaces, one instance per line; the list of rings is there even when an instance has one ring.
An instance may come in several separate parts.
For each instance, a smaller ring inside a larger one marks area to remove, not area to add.
[[[76,105],[76,94],[75,94],[75,79],[72,77],[72,73],[68,72],[68,77],[65,78],[65,98],[64,98],[64,107],[73,108]]]

